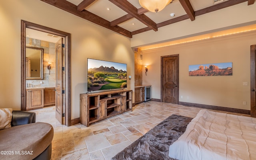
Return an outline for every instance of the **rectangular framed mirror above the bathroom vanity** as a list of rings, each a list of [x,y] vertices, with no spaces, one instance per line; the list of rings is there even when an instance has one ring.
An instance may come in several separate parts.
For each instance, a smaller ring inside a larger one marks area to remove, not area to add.
[[[26,80],[43,79],[44,49],[26,47]]]

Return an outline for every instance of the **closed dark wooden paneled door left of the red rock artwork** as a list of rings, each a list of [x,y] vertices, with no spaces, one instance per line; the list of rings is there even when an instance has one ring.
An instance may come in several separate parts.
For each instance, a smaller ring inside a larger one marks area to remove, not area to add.
[[[179,55],[161,57],[161,100],[178,104]]]

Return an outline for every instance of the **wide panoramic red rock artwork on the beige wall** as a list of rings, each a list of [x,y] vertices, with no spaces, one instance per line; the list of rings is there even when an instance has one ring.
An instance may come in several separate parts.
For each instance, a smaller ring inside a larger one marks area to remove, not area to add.
[[[232,76],[232,62],[188,66],[189,76]]]

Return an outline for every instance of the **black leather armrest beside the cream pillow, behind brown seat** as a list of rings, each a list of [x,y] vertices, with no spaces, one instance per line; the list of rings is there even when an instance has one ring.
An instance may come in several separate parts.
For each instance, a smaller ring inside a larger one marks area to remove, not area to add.
[[[12,111],[11,125],[25,125],[36,122],[36,113],[30,111]]]

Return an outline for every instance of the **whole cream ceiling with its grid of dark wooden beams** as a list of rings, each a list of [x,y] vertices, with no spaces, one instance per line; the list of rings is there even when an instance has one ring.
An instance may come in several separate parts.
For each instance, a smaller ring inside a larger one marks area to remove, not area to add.
[[[196,21],[196,16],[222,10],[242,2],[248,2],[248,5],[255,2],[255,0],[224,0],[214,4],[214,0],[173,0],[164,10],[153,13],[142,8],[139,0],[41,1],[129,38],[149,30],[158,31],[160,27],[179,21],[187,19]],[[171,13],[175,16],[171,17]]]

